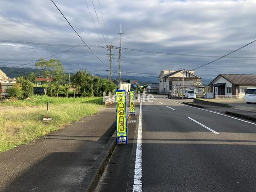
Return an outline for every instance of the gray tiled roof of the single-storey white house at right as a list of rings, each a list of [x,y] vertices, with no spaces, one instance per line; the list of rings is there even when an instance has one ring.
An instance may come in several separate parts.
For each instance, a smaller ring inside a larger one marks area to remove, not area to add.
[[[219,74],[212,82],[209,83],[209,86],[219,77],[223,77],[230,81],[234,85],[256,85],[256,75],[249,74]]]

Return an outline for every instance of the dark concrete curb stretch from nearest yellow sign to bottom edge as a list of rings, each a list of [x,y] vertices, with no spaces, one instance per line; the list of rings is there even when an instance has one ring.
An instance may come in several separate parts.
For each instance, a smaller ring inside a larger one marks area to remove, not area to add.
[[[108,143],[103,148],[101,154],[90,168],[88,174],[83,178],[82,182],[76,192],[93,192],[111,158],[114,149],[116,148],[116,131]]]

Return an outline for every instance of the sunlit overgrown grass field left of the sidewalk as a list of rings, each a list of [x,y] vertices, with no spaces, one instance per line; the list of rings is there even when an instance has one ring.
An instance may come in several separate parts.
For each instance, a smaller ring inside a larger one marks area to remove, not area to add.
[[[44,124],[49,101],[49,117],[52,122]],[[39,136],[63,128],[81,117],[97,113],[102,98],[54,98],[32,96],[26,100],[0,103],[0,152],[29,143]]]

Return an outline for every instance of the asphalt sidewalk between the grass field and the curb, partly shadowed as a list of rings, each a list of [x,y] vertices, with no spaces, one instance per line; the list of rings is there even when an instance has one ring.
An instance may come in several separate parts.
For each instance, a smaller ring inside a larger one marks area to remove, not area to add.
[[[115,105],[0,153],[0,191],[76,191],[116,129]]]

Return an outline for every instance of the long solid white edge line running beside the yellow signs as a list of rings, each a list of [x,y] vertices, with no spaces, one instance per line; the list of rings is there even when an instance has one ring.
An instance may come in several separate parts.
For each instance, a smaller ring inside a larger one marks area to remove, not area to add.
[[[134,169],[133,192],[142,192],[142,101],[140,100],[140,115],[137,135],[137,148]]]

